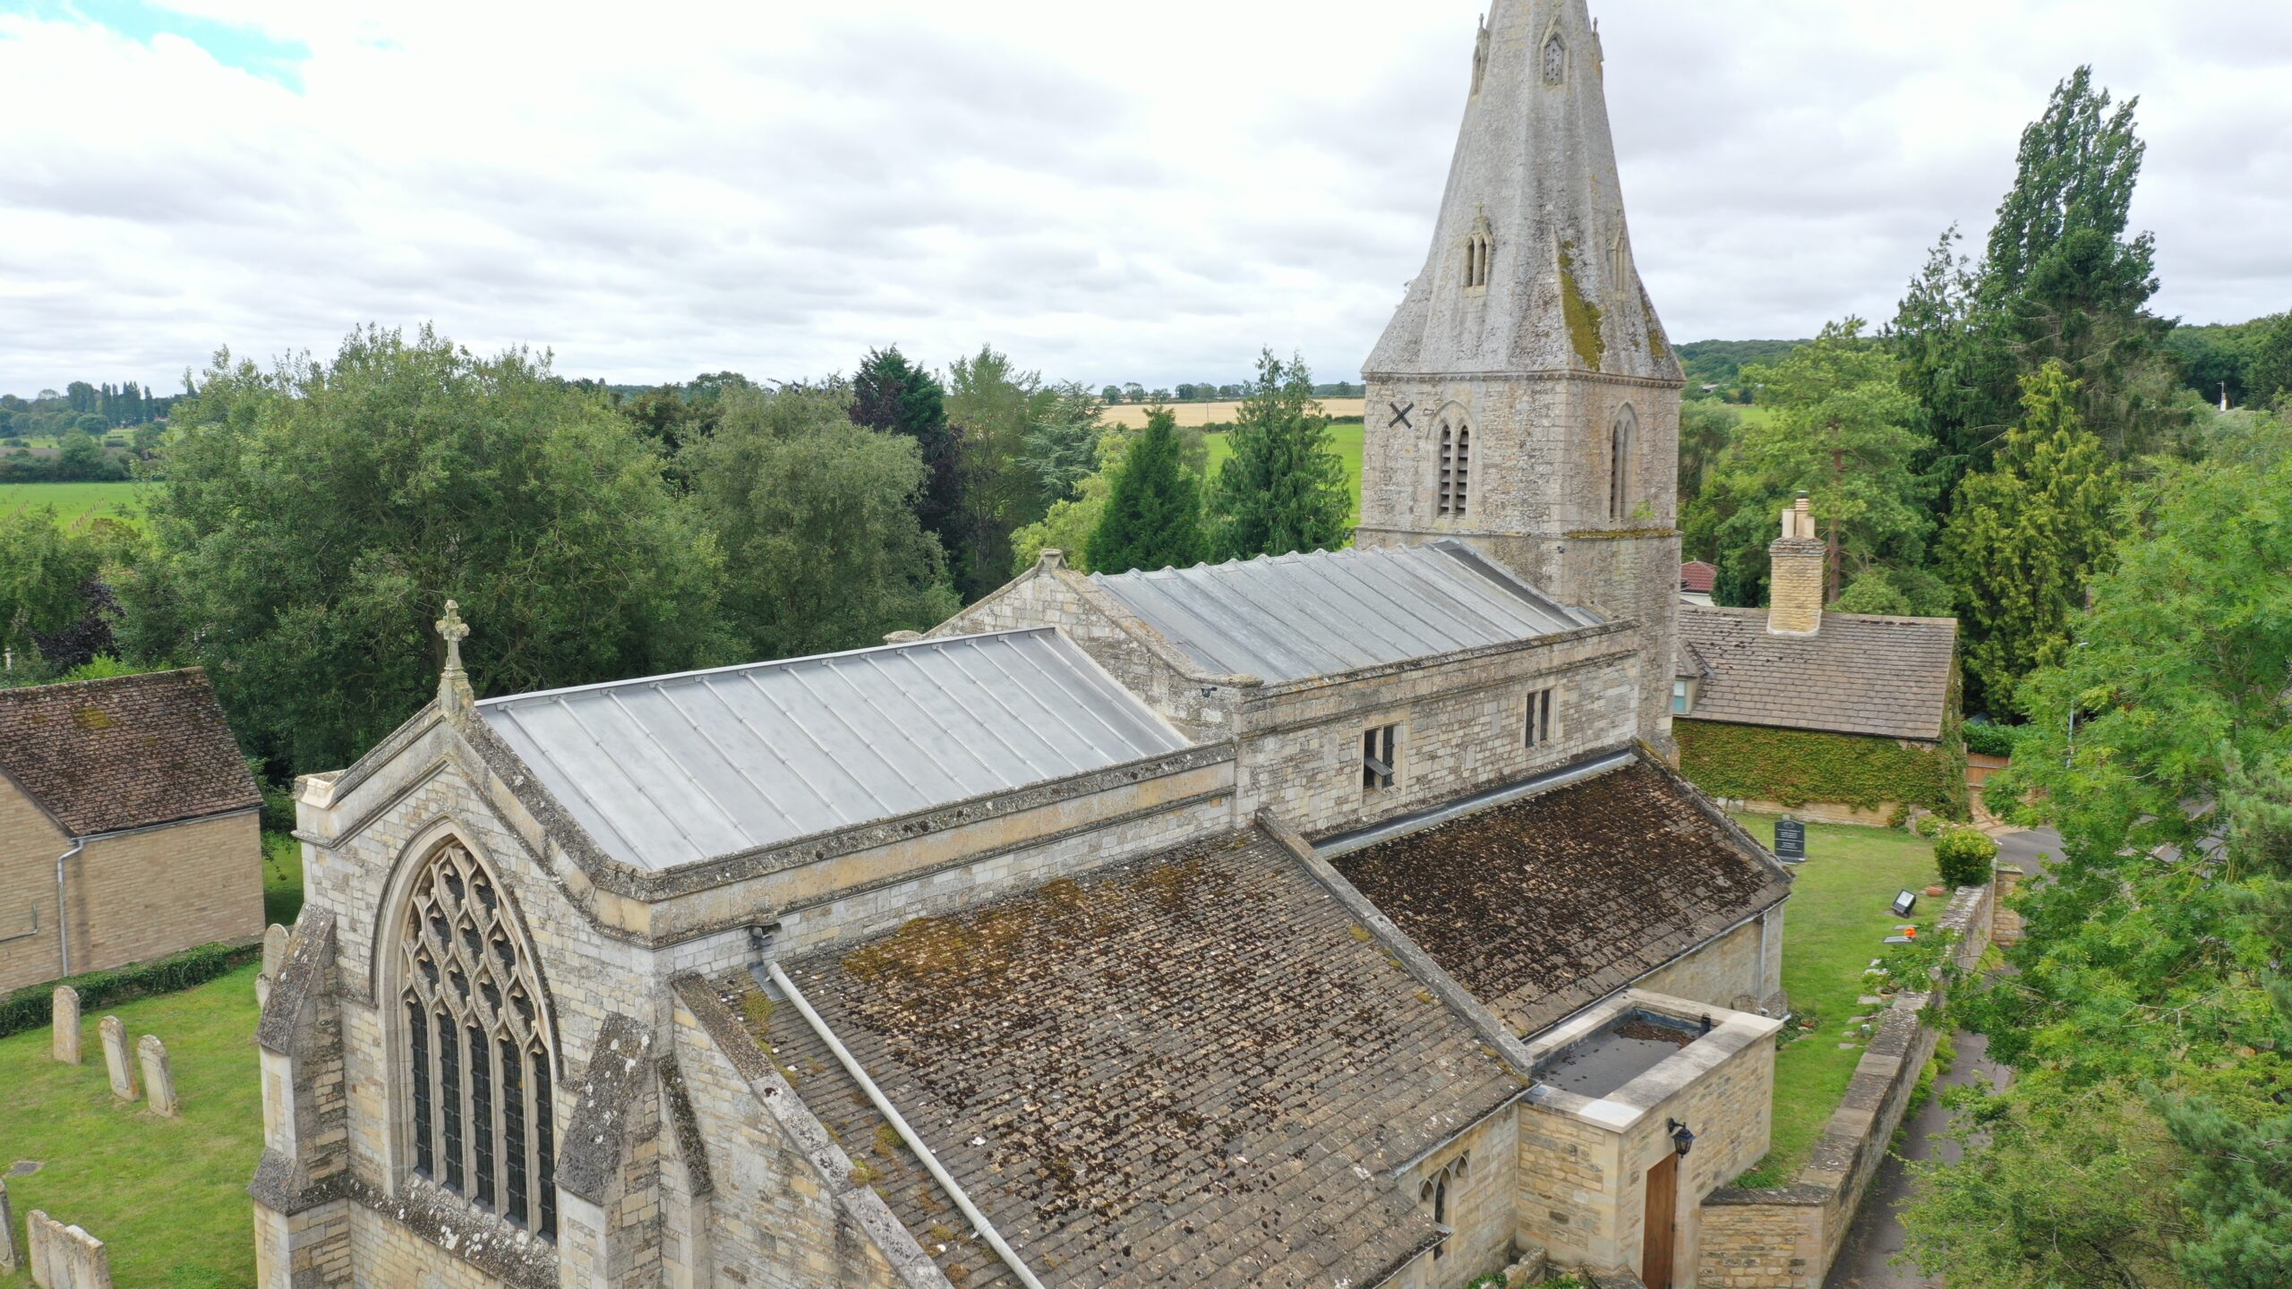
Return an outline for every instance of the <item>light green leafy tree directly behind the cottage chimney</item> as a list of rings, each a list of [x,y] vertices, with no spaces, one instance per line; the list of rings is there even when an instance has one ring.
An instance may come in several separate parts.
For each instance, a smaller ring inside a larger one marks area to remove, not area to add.
[[[1912,466],[1925,440],[1893,356],[1861,330],[1861,319],[1836,321],[1781,362],[1742,369],[1769,415],[1744,427],[1710,489],[1728,514],[1719,567],[1735,603],[1765,580],[1776,516],[1797,493],[1824,541],[1827,601],[1850,573],[1923,550],[1928,493]]]

